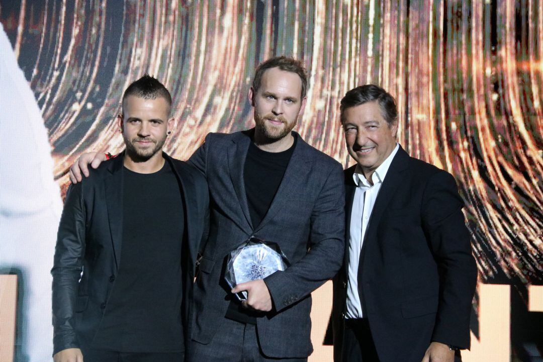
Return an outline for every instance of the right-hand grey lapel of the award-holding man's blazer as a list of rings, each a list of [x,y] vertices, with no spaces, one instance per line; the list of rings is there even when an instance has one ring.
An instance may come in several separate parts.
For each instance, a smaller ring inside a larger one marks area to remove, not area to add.
[[[255,232],[268,224],[274,218],[275,214],[293,198],[294,194],[298,193],[304,187],[307,174],[311,170],[311,160],[306,157],[306,149],[309,146],[300,135],[296,134],[295,137],[298,137],[298,140],[296,141],[296,147],[292,153],[291,160],[288,162],[287,169],[285,170],[285,175],[283,175],[273,201],[271,201],[268,212],[260,225],[256,227]]]

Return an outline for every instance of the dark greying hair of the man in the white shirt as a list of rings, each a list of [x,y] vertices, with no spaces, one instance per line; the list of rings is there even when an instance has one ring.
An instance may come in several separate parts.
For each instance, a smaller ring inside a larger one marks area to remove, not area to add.
[[[345,97],[342,98],[339,105],[341,122],[343,123],[343,114],[346,109],[373,101],[376,101],[381,108],[381,115],[387,121],[389,127],[397,121],[398,109],[394,97],[381,87],[367,84],[353,88],[345,93]]]

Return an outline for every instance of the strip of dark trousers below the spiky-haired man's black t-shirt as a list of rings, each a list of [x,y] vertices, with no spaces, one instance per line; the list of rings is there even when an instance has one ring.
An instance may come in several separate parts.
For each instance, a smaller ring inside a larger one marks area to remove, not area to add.
[[[184,362],[185,360],[184,352],[122,353],[94,348],[85,348],[81,352],[85,362]]]

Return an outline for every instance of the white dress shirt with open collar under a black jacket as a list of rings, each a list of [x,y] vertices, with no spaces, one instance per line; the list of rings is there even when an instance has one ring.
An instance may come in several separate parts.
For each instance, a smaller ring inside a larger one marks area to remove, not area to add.
[[[362,243],[364,242],[364,236],[368,228],[368,222],[375,200],[381,189],[384,177],[387,175],[390,163],[399,148],[400,145],[396,143],[396,147],[392,153],[390,153],[383,163],[375,169],[375,172],[371,175],[373,185],[366,180],[359,165],[356,166],[355,174],[353,175],[356,190],[355,197],[352,200],[351,225],[347,225],[347,227],[350,227],[350,238],[346,318],[365,317],[364,310],[362,310],[362,303],[360,302],[360,297],[358,295],[358,264],[360,262],[360,251],[362,250]]]

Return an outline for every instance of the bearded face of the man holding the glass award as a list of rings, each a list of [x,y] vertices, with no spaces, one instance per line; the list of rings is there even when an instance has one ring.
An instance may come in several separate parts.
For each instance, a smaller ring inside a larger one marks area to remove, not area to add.
[[[304,112],[302,82],[298,74],[270,68],[262,75],[260,87],[249,91],[255,107],[255,132],[271,141],[290,135],[298,116]]]

